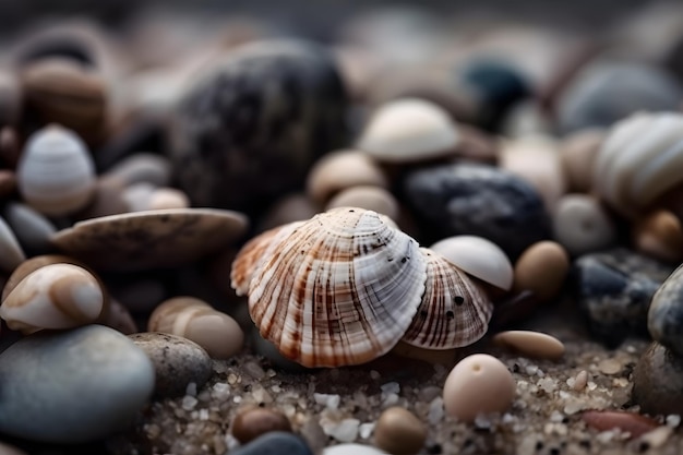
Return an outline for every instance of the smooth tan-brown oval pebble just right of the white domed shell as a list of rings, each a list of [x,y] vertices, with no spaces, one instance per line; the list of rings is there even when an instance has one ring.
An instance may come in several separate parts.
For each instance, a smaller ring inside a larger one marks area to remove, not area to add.
[[[560,243],[534,243],[515,263],[513,292],[529,290],[539,301],[549,301],[560,291],[568,272],[570,256]]]

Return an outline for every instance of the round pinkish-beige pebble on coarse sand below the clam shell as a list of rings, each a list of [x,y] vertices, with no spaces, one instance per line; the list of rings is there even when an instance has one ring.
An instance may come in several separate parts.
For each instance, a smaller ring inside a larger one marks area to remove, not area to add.
[[[475,354],[451,370],[443,400],[450,416],[472,422],[480,414],[510,409],[515,393],[515,380],[503,362],[487,354]]]

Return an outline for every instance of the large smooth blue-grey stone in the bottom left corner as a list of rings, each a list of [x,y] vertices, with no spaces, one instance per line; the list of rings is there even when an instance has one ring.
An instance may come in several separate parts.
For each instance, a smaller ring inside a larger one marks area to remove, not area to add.
[[[119,332],[39,332],[0,355],[0,431],[80,443],[122,430],[154,391],[154,366]]]

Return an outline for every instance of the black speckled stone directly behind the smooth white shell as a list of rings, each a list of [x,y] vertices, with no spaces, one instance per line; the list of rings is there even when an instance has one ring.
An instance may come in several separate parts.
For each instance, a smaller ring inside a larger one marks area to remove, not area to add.
[[[514,261],[550,238],[550,217],[538,191],[493,166],[460,163],[408,173],[404,196],[420,223],[421,243],[457,236],[484,237]]]

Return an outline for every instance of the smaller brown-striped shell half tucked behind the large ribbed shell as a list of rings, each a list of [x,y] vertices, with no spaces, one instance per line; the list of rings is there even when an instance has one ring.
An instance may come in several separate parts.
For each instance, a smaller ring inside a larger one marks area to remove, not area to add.
[[[453,349],[481,338],[493,303],[484,289],[442,255],[422,248],[427,286],[403,342],[426,349]]]

